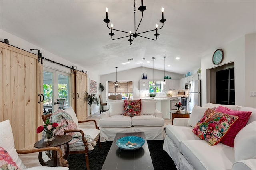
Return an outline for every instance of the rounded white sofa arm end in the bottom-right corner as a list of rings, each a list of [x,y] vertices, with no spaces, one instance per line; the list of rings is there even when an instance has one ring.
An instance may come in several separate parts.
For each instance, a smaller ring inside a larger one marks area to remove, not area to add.
[[[256,159],[246,159],[235,162],[232,166],[232,170],[255,170]]]

